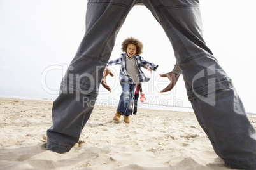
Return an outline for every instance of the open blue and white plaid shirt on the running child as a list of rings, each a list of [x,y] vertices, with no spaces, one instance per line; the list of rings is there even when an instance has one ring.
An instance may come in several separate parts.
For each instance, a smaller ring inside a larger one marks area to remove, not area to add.
[[[119,73],[119,81],[120,82],[128,82],[129,84],[134,84],[134,80],[132,79],[132,77],[130,77],[127,74],[127,70],[126,70],[126,67],[125,67],[126,66],[125,65],[125,57],[126,57],[126,54],[122,53],[120,55],[120,58],[117,58],[115,60],[111,60],[110,62],[108,62],[107,66],[108,65],[120,64],[121,69],[120,69],[120,73]],[[127,57],[129,57],[129,56],[127,56]],[[139,71],[138,71],[139,82],[148,82],[150,80],[150,78],[145,76],[145,74],[141,70],[141,67],[144,67],[146,69],[145,66],[147,66],[150,69],[152,69],[153,71],[156,71],[158,65],[154,65],[153,63],[147,62],[140,55],[135,55],[134,58],[135,58],[136,65],[139,69]]]

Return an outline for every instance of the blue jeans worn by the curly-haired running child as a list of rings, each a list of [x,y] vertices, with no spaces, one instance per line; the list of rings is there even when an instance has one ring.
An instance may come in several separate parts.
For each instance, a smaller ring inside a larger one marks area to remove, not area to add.
[[[131,114],[132,100],[134,98],[136,85],[137,84],[121,83],[123,92],[120,96],[117,112],[127,117]]]

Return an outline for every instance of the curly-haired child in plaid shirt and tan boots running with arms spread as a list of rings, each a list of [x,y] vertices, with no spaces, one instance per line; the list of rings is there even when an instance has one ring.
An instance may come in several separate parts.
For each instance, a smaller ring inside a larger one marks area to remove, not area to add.
[[[132,100],[138,82],[148,82],[150,78],[146,77],[141,67],[153,71],[157,70],[158,65],[147,62],[140,54],[142,53],[143,44],[133,37],[129,37],[122,42],[122,53],[120,58],[111,60],[108,65],[121,65],[119,81],[122,86],[117,113],[113,117],[114,121],[119,122],[121,115],[124,115],[124,122],[129,123],[129,115],[132,109]],[[106,69],[105,69],[106,72]],[[105,73],[104,73],[105,74]]]

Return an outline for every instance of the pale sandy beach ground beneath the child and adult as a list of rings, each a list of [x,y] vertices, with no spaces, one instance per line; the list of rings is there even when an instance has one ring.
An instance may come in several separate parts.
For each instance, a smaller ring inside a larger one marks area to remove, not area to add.
[[[228,169],[194,113],[138,108],[115,124],[115,107],[96,106],[79,145],[57,154],[45,149],[51,110],[52,101],[0,98],[0,169]]]

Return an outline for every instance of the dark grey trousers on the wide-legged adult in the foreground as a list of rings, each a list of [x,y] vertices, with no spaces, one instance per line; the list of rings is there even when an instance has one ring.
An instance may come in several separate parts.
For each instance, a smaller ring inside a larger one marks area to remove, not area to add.
[[[204,42],[198,0],[89,0],[85,36],[53,103],[46,149],[68,152],[78,142],[118,31],[136,3],[145,4],[166,32],[188,100],[215,152],[231,168],[256,169],[255,129],[231,79]]]

